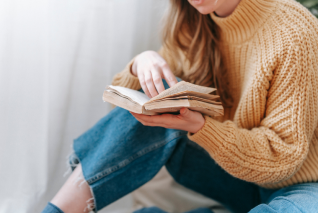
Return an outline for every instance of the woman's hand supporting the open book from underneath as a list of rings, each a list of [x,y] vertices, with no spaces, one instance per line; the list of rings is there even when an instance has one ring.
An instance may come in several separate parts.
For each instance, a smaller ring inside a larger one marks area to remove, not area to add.
[[[182,108],[179,115],[142,115],[133,112],[132,115],[143,125],[151,127],[164,127],[185,130],[197,133],[205,123],[205,119],[200,112]]]

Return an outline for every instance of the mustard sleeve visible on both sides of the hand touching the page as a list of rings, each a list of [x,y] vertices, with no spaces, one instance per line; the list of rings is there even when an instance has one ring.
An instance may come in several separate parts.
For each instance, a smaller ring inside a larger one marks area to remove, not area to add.
[[[161,47],[160,50],[158,51],[158,53],[159,53],[159,55],[162,56],[162,58],[164,58],[164,60],[166,60],[170,69],[176,75],[177,74],[176,73],[176,66],[175,66],[174,60],[172,60],[172,57],[170,57],[169,52],[165,48]],[[121,72],[117,73],[114,76],[112,85],[123,86],[123,87],[136,89],[136,90],[139,90],[141,88],[141,86],[139,84],[139,79],[131,73],[132,65],[134,64],[135,58],[132,59],[126,65],[124,70],[122,70]]]

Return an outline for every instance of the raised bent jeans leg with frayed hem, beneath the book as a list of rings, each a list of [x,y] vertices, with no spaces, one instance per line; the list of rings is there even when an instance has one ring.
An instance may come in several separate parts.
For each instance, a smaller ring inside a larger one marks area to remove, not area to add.
[[[115,108],[74,141],[96,210],[152,179],[187,132],[146,127],[127,110]]]

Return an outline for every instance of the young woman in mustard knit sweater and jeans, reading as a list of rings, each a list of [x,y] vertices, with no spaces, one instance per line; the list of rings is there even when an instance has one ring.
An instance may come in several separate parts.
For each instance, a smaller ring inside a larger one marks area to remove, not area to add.
[[[175,76],[216,87],[225,115],[115,108],[74,141],[70,160],[80,163],[43,213],[98,211],[163,165],[234,213],[318,212],[318,20],[307,9],[294,0],[171,0],[159,53],[136,56],[113,85],[154,97]]]

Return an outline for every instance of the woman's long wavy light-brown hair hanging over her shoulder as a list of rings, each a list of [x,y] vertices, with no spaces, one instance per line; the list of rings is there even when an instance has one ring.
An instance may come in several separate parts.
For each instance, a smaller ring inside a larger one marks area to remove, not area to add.
[[[170,0],[170,10],[163,27],[163,46],[177,64],[182,54],[189,63],[184,80],[217,88],[224,106],[232,106],[228,91],[226,68],[219,47],[218,26],[209,15],[199,13],[187,0]]]

